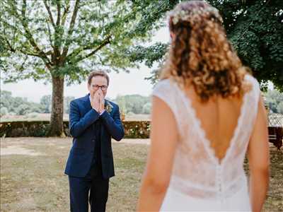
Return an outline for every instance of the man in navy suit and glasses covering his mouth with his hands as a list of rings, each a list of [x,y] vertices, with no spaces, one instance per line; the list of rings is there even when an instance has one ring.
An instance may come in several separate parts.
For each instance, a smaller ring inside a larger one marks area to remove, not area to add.
[[[115,175],[111,137],[125,133],[119,107],[105,100],[109,77],[104,71],[88,76],[88,95],[70,103],[69,129],[73,146],[65,174],[69,175],[71,211],[105,211],[109,178]],[[88,192],[90,194],[88,195]]]

